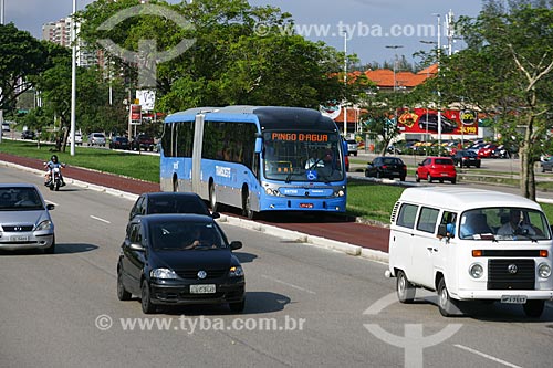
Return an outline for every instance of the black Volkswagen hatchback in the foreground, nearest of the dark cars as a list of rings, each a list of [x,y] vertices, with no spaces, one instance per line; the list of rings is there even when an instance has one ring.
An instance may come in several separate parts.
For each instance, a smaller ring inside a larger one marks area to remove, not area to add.
[[[127,225],[117,262],[117,297],[139,295],[145,314],[160,305],[228,304],[242,312],[246,280],[215,220],[199,214],[140,215]]]

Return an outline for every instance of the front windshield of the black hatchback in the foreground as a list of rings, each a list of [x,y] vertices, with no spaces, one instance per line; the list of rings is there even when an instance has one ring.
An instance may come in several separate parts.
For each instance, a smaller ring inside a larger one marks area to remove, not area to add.
[[[211,222],[155,221],[149,224],[152,248],[157,251],[227,249]]]

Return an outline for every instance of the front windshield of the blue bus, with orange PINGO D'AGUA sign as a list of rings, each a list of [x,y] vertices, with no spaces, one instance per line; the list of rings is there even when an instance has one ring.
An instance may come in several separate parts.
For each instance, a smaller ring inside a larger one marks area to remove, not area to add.
[[[263,174],[282,181],[343,180],[345,170],[337,134],[265,132]]]

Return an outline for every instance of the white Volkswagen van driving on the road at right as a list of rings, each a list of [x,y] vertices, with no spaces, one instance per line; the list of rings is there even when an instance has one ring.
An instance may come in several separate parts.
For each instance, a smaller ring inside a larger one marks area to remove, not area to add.
[[[436,291],[444,316],[459,301],[522,304],[541,316],[553,299],[552,229],[529,199],[470,188],[406,189],[390,218],[389,270],[399,302]]]

